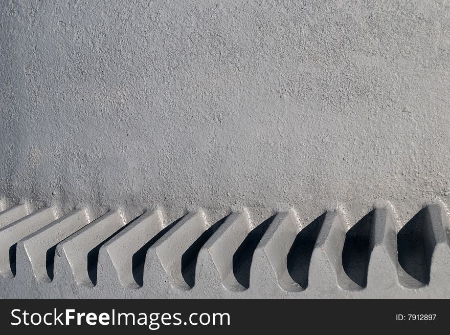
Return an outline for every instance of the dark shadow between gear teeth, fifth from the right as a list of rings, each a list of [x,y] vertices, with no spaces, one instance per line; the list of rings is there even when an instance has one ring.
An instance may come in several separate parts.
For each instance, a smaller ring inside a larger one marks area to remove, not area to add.
[[[214,223],[205,232],[203,232],[198,239],[185,251],[181,258],[181,273],[186,284],[189,287],[194,287],[195,284],[195,267],[197,265],[198,253],[201,247],[208,241],[208,239],[214,234],[220,225],[225,222],[228,216],[222,218],[220,221]]]

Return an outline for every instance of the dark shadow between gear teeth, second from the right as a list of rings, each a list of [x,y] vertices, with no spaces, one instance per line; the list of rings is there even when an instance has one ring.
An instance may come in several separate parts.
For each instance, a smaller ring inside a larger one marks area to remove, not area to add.
[[[371,211],[350,228],[342,250],[342,266],[345,273],[361,287],[367,286],[374,214],[375,211]]]

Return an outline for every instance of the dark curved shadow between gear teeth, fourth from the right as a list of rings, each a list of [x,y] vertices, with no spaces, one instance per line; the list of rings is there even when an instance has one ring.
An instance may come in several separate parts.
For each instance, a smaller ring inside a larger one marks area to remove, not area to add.
[[[237,282],[245,288],[250,287],[250,266],[255,249],[274,218],[275,215],[253,228],[233,255],[233,274]]]

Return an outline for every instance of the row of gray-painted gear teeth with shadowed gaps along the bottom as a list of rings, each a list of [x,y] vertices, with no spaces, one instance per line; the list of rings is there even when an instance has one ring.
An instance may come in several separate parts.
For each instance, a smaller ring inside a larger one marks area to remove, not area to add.
[[[12,218],[28,206],[0,212],[2,298],[450,298],[442,202],[398,232],[391,207],[347,229],[340,211],[302,225],[289,210],[254,227],[246,211],[213,225],[201,211],[166,224],[160,208]]]

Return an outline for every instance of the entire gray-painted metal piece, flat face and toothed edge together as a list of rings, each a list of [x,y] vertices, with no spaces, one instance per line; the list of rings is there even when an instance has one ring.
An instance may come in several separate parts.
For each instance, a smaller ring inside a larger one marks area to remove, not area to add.
[[[449,36],[447,1],[1,1],[0,295],[447,296]]]

